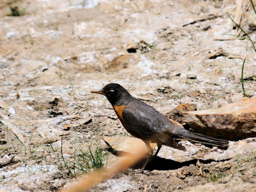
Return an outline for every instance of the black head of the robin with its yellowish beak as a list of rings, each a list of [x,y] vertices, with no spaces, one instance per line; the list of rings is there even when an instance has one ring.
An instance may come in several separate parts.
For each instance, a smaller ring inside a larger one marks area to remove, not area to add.
[[[98,93],[106,96],[109,102],[114,105],[122,105],[131,96],[128,91],[117,83],[110,83],[104,86],[101,90],[92,91],[92,93]]]

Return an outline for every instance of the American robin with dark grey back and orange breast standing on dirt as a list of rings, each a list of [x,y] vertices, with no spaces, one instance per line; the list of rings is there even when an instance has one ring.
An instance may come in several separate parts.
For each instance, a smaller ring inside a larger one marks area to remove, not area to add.
[[[212,138],[178,126],[153,107],[131,96],[119,84],[110,83],[101,90],[92,91],[92,93],[107,97],[126,131],[132,136],[142,139],[150,154],[152,154],[150,142],[157,143],[158,149],[155,156],[162,145],[185,151],[186,148],[178,144],[177,140],[189,140],[212,146],[228,145],[227,140]],[[149,158],[150,156],[142,166],[141,172],[143,172]]]

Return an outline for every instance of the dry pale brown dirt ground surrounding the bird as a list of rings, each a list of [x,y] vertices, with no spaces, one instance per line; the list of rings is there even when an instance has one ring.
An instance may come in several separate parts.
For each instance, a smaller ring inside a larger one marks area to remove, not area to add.
[[[8,16],[15,6],[21,16]],[[242,98],[238,86],[208,104],[241,82],[244,58],[244,79],[256,72],[248,40],[216,40],[236,34],[226,15],[235,9],[233,0],[2,0],[0,189],[55,191],[101,166],[97,157],[114,164],[101,139],[128,134],[106,98],[90,93],[109,82],[164,114]],[[209,56],[219,48],[230,56]],[[245,90],[255,96],[256,82]],[[150,176],[127,170],[91,191],[256,190],[255,138],[228,149],[182,144],[186,152],[162,148]]]

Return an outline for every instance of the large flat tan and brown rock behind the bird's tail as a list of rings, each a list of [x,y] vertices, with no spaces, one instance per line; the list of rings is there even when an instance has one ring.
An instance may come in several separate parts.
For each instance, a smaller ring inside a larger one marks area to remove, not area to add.
[[[180,112],[182,123],[215,138],[239,140],[256,136],[256,98],[244,98],[217,109]]]

